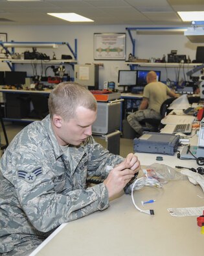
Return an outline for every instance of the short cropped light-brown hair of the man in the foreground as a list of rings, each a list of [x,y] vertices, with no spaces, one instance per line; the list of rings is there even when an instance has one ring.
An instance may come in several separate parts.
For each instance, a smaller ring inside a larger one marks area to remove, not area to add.
[[[74,118],[77,107],[97,110],[97,102],[93,94],[78,83],[60,83],[51,91],[48,100],[51,118],[54,114],[61,116],[65,121]]]

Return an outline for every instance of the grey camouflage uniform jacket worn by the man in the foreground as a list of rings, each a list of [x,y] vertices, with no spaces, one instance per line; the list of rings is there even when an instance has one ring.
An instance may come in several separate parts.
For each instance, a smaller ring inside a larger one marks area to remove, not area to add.
[[[106,186],[86,188],[87,175],[106,178],[106,167],[122,160],[92,136],[63,153],[49,116],[27,125],[0,162],[0,254],[21,238],[43,240],[62,223],[106,209]]]

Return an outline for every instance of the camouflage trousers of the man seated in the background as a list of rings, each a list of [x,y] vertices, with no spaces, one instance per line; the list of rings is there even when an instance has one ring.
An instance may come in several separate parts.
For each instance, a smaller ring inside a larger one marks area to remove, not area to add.
[[[142,135],[143,132],[142,125],[140,122],[144,120],[144,118],[160,119],[161,116],[153,109],[137,110],[136,112],[130,114],[127,117],[127,121],[139,135]],[[150,125],[149,123],[146,123],[146,127],[148,129],[152,129],[152,125]]]

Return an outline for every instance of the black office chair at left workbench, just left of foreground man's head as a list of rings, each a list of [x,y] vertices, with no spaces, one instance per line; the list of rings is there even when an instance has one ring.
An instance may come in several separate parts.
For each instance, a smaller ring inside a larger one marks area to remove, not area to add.
[[[34,107],[34,110],[32,111],[32,116],[40,119],[45,118],[45,116],[49,114],[47,96],[38,93],[33,93],[29,96]]]

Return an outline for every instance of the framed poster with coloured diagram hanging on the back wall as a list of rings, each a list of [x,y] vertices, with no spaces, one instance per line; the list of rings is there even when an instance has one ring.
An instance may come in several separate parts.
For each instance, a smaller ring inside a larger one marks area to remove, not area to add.
[[[95,33],[95,60],[125,60],[126,33]]]

